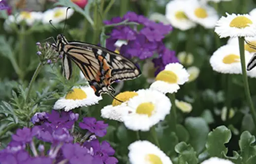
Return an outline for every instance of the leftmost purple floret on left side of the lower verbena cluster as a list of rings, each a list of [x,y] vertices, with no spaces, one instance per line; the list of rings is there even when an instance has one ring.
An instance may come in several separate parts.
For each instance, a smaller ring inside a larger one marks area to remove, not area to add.
[[[17,142],[28,143],[32,141],[32,138],[36,135],[38,127],[34,127],[32,130],[25,127],[18,129],[15,135],[12,135],[12,139]]]

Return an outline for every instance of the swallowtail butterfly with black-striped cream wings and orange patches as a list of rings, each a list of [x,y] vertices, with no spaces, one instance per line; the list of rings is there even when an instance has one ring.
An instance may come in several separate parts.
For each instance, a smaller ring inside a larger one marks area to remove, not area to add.
[[[132,80],[141,75],[140,69],[126,57],[108,49],[79,41],[67,41],[64,35],[57,36],[55,50],[63,55],[63,74],[69,80],[74,62],[82,71],[97,96],[114,94],[112,83]],[[72,62],[71,62],[72,61]]]

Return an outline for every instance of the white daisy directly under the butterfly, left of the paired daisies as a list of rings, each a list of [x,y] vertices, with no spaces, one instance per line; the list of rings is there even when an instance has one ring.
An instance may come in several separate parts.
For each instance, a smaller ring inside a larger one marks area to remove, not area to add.
[[[100,100],[102,100],[102,97],[96,96],[94,89],[90,86],[74,86],[64,97],[61,97],[55,102],[53,109],[69,111],[79,107],[98,104]]]

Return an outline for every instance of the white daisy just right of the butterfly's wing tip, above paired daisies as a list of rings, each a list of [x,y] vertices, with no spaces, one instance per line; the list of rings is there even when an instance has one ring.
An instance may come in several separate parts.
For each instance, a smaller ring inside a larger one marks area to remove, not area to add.
[[[180,89],[179,85],[189,81],[189,76],[189,73],[180,63],[169,63],[157,75],[156,82],[153,82],[150,88],[164,94],[174,93]]]

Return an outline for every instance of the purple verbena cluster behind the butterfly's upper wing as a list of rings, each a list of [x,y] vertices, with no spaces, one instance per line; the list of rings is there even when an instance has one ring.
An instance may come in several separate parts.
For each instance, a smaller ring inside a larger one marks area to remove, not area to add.
[[[162,42],[164,36],[172,30],[170,25],[156,23],[134,12],[128,12],[123,18],[115,17],[110,21],[104,21],[104,24],[117,24],[125,20],[136,22],[139,26],[120,25],[114,27],[109,34],[110,37],[106,40],[106,47],[108,49],[115,51],[116,47],[114,44],[118,40],[126,40],[128,44],[122,45],[120,54],[128,58],[138,57],[139,59],[146,59],[153,57],[154,54],[158,54],[153,59],[155,67],[158,68],[156,74],[163,70],[166,64],[178,62],[175,52],[167,49]]]

